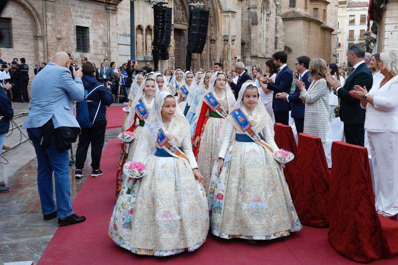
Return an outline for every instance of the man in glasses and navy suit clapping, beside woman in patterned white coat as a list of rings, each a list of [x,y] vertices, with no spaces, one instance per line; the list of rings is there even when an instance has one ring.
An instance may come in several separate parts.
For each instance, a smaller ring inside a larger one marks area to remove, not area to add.
[[[300,77],[298,80],[301,80],[305,84],[305,89],[308,90],[311,82],[308,81],[310,77],[310,71],[308,70],[308,66],[310,65],[310,57],[308,56],[300,56],[296,58],[296,69],[297,72],[300,73]],[[302,133],[304,131],[304,110],[305,103],[300,99],[300,89],[296,86],[296,90],[293,95],[289,95],[285,92],[278,93],[275,96],[277,99],[281,98],[291,103],[291,117],[295,120],[296,131],[297,133]]]

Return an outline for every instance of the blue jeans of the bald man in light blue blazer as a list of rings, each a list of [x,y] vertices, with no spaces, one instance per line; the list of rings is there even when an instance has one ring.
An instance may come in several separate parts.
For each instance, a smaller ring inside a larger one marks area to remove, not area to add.
[[[70,201],[68,150],[59,151],[55,148],[55,133],[53,133],[51,144],[47,148],[40,146],[40,128],[29,128],[27,134],[35,147],[37,156],[37,187],[42,213],[51,214],[57,211],[59,218],[70,216],[73,214],[73,210]],[[57,207],[54,202],[53,172]]]

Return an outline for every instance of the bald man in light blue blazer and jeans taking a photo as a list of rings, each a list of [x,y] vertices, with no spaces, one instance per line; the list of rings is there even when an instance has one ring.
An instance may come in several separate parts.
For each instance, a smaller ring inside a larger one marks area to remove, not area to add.
[[[58,224],[68,225],[84,222],[86,217],[73,213],[70,201],[69,152],[55,147],[56,135],[53,132],[47,148],[40,146],[42,126],[52,120],[54,129],[79,127],[73,115],[72,99],[82,101],[84,87],[81,80],[82,69],[69,71],[69,56],[64,52],[55,54],[31,84],[29,115],[23,129],[27,129],[29,139],[37,156],[37,187],[44,220],[58,217]],[[48,123],[47,123],[48,124]],[[53,195],[53,172],[55,178],[55,206]]]

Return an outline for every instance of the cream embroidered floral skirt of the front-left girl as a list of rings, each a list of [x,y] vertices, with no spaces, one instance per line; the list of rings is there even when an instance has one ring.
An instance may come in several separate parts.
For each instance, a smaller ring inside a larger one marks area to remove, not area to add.
[[[189,163],[153,156],[148,173],[126,194],[128,178],[117,199],[109,236],[136,254],[168,256],[193,251],[206,240],[209,215],[205,191]]]

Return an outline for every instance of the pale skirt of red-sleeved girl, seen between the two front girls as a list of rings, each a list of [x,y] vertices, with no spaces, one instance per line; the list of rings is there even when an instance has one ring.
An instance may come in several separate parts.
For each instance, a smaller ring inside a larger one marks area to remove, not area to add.
[[[209,191],[211,171],[215,160],[219,157],[222,140],[224,139],[226,120],[210,117],[200,140],[197,158],[198,168],[203,176],[205,191]],[[232,135],[235,138],[235,133]]]

